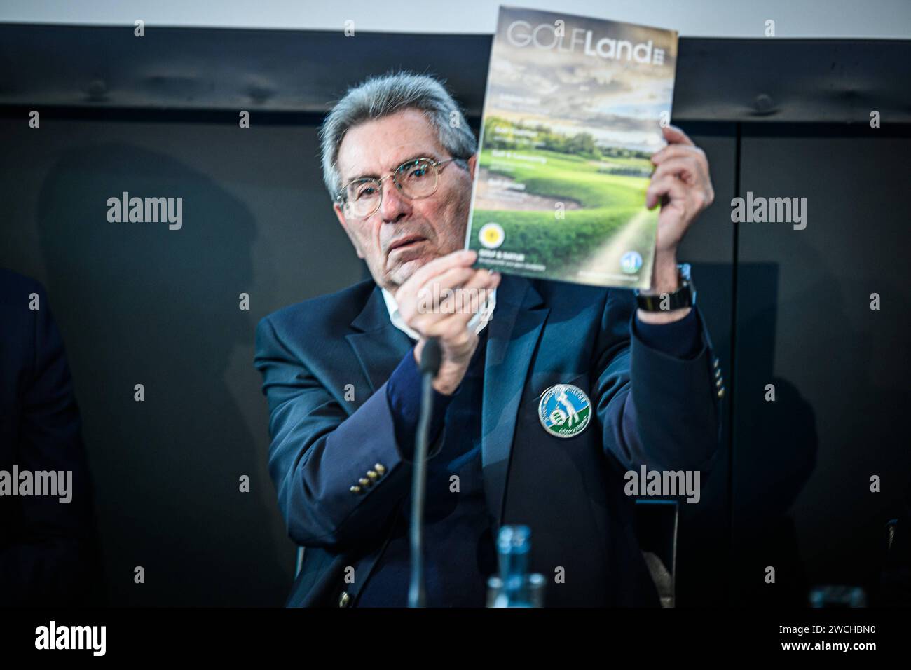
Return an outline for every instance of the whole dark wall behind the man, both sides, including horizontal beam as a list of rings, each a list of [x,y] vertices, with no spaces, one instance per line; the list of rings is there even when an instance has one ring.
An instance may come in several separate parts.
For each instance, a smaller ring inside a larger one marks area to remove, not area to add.
[[[253,329],[364,276],[316,129],[344,88],[390,67],[445,77],[476,127],[490,43],[343,39],[173,28],[140,48],[122,28],[0,26],[0,266],[46,283],[67,341],[110,603],[283,602],[294,556]],[[907,42],[681,40],[672,120],[708,153],[717,192],[681,260],[729,397],[718,476],[682,508],[681,605],[875,586],[911,481],[908,56]],[[107,222],[121,191],[183,197],[183,229]],[[746,191],[806,197],[806,230],[732,223]]]

